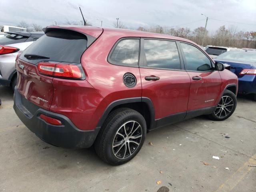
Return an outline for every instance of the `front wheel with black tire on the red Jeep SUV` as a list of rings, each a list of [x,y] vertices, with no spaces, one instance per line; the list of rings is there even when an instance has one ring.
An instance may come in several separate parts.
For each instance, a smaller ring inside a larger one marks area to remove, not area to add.
[[[218,103],[218,106],[208,117],[215,121],[225,120],[234,113],[236,104],[236,95],[230,90],[225,90],[220,102]]]

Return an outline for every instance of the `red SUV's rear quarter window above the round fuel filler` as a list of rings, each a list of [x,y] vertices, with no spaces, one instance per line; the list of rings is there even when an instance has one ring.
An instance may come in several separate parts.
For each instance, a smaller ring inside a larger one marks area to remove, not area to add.
[[[109,61],[117,65],[138,66],[139,48],[139,39],[121,40],[114,48]]]

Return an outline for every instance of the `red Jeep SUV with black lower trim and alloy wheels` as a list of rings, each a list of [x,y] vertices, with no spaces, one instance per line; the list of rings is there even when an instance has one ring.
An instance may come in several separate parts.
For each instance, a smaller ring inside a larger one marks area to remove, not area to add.
[[[237,76],[183,38],[91,26],[51,26],[16,59],[14,110],[54,146],[131,160],[147,131],[236,108]]]

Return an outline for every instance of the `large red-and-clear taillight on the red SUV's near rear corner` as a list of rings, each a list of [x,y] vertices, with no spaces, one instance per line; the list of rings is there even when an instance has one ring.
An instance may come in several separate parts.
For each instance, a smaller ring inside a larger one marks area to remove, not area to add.
[[[85,79],[82,65],[78,63],[40,62],[38,71],[40,74],[58,78]]]

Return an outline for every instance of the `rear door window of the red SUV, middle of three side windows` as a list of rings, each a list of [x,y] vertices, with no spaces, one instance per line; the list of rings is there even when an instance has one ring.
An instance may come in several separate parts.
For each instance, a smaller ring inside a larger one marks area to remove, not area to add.
[[[148,67],[181,69],[176,42],[144,40],[144,50]]]

